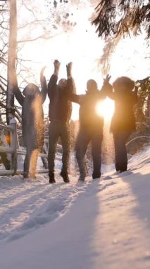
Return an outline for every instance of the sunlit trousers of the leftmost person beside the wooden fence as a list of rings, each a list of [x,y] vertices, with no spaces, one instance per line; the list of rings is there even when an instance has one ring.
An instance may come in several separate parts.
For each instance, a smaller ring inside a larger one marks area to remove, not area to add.
[[[24,161],[24,177],[35,177],[35,172],[37,168],[37,158],[39,155],[39,149],[32,149],[31,147],[27,146],[27,154],[25,155]]]

